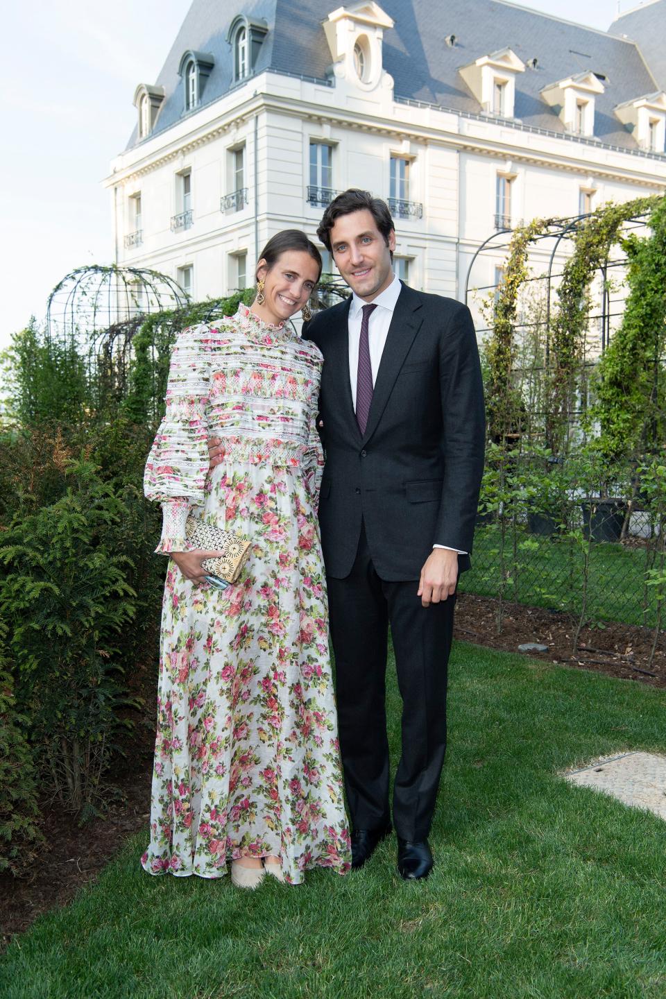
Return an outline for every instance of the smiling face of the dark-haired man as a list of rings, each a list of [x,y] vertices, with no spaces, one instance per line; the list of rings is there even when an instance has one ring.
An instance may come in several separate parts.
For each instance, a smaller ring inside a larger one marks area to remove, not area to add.
[[[335,219],[331,249],[337,270],[365,302],[375,299],[393,280],[390,255],[395,249],[395,233],[391,230],[386,245],[366,208]]]

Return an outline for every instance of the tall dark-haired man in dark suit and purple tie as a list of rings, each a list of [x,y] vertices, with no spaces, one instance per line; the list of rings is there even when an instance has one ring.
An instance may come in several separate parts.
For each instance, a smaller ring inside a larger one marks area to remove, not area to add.
[[[446,665],[483,470],[476,337],[460,303],[392,272],[384,202],[345,191],[318,230],[352,297],[304,337],[325,364],[320,496],[352,866],[390,832],[387,632],[402,697],[392,818],[403,878],[427,876],[446,744]]]

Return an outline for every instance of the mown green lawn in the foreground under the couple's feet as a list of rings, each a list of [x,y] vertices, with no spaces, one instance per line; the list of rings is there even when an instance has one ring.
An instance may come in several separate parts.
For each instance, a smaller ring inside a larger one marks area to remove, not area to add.
[[[663,999],[666,824],[555,772],[666,750],[660,691],[458,644],[436,867],[151,878],[135,840],[0,962],[3,999]],[[389,689],[392,746],[399,704]],[[44,859],[48,863],[48,856]]]

